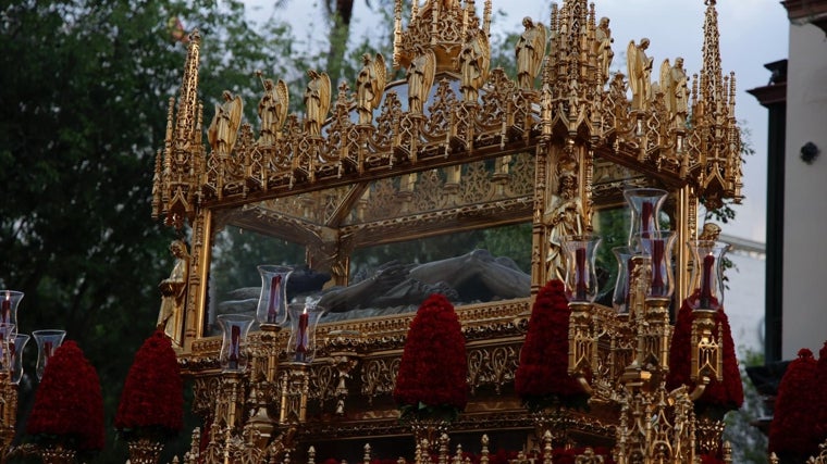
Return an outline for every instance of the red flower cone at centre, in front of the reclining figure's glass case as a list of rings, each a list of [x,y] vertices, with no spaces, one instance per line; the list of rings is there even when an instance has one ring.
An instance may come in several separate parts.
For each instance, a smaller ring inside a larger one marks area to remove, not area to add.
[[[410,323],[394,400],[402,418],[454,419],[468,402],[465,337],[442,294],[430,296]]]

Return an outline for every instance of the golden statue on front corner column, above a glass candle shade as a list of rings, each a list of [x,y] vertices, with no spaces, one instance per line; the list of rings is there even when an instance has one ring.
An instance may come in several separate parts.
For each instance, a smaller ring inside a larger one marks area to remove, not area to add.
[[[546,279],[564,280],[566,260],[563,255],[563,239],[566,236],[583,234],[583,205],[577,195],[575,173],[560,173],[557,193],[552,196],[551,208],[546,211],[543,223],[548,227]]]

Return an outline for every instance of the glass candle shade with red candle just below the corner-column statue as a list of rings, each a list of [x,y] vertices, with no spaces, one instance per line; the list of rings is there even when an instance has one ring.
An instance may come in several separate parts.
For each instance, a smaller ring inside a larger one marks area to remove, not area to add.
[[[601,238],[594,235],[567,236],[563,239],[566,253],[566,297],[569,302],[593,303],[597,298],[597,273],[594,259]]]

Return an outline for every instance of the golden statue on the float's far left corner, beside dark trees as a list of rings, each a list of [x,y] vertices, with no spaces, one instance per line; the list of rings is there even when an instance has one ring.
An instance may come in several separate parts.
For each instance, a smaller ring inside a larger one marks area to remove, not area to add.
[[[170,277],[161,280],[161,310],[158,312],[159,329],[162,329],[173,341],[181,343],[182,318],[186,300],[187,272],[189,269],[189,253],[182,240],[170,243],[170,252],[175,258]]]

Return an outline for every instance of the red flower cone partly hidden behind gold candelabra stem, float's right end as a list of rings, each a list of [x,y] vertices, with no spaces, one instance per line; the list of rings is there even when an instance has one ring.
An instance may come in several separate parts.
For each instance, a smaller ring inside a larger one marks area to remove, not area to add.
[[[689,305],[689,299],[683,300],[678,318],[675,323],[675,333],[669,347],[669,374],[666,377],[668,389],[675,389],[681,385],[690,388],[695,387],[695,383],[690,379],[692,367],[692,308]],[[717,416],[728,411],[741,407],[743,404],[743,384],[741,383],[741,373],[738,369],[738,359],[736,358],[736,346],[732,341],[732,329],[729,327],[729,317],[719,308],[715,313],[717,333],[721,330],[724,337],[724,360],[723,377],[719,381],[716,378],[709,380],[704,393],[695,401],[695,407],[699,413],[709,412]]]

